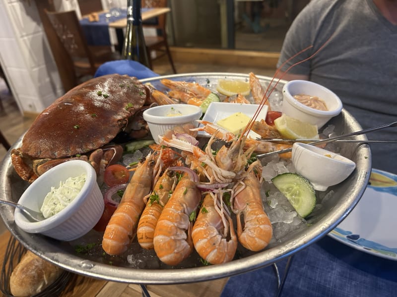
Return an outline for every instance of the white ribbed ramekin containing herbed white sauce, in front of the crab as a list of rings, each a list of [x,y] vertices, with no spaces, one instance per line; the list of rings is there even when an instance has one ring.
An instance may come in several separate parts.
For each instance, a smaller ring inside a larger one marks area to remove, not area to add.
[[[102,216],[104,199],[96,182],[95,170],[86,161],[71,160],[51,168],[25,190],[18,203],[40,211],[52,187],[58,188],[60,182],[82,174],[85,174],[86,180],[81,191],[64,209],[40,222],[30,222],[16,208],[16,225],[25,232],[41,233],[61,241],[71,241],[88,233]]]

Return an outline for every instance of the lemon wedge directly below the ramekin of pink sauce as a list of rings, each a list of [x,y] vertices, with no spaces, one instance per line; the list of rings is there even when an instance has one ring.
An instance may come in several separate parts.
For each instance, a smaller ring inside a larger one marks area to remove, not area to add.
[[[302,122],[286,114],[274,120],[274,126],[287,139],[319,139],[316,125]]]

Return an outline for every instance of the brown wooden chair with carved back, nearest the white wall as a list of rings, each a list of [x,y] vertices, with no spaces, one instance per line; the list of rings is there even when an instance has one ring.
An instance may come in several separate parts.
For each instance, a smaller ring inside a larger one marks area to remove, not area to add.
[[[86,76],[93,76],[97,68],[104,62],[117,59],[110,47],[89,47],[81,29],[76,12],[74,10],[64,12],[53,12],[45,10],[52,29],[56,32],[58,39],[61,41],[67,56],[64,63],[68,69],[58,69],[60,74],[65,72],[71,83],[65,86],[65,92],[72,87],[80,84]],[[50,45],[51,40],[49,39]],[[53,54],[59,55],[59,51]],[[59,65],[57,65],[59,68]]]

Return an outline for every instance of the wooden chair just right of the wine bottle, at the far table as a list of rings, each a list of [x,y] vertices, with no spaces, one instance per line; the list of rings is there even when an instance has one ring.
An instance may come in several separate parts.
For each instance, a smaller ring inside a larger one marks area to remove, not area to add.
[[[142,0],[142,7],[167,7],[167,0]],[[148,22],[146,22],[146,24],[143,24],[143,27],[155,28],[157,31],[157,36],[145,36],[147,57],[149,58],[149,67],[150,69],[153,69],[153,60],[167,55],[172,70],[174,71],[174,73],[177,73],[167,42],[167,33],[165,30],[166,16],[167,14],[162,14],[158,16],[157,22],[154,22],[153,24],[148,24]],[[151,51],[153,50],[156,52],[155,58],[152,58],[150,55]]]

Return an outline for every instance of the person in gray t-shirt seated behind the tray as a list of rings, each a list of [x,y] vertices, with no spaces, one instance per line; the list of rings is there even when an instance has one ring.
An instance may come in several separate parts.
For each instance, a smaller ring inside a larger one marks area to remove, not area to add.
[[[310,80],[331,89],[364,129],[397,121],[397,1],[312,0],[288,30],[277,67],[313,45],[286,63],[285,71],[324,44],[283,79]],[[367,137],[396,141],[397,128]],[[397,174],[397,145],[371,144],[371,151],[373,168]]]

